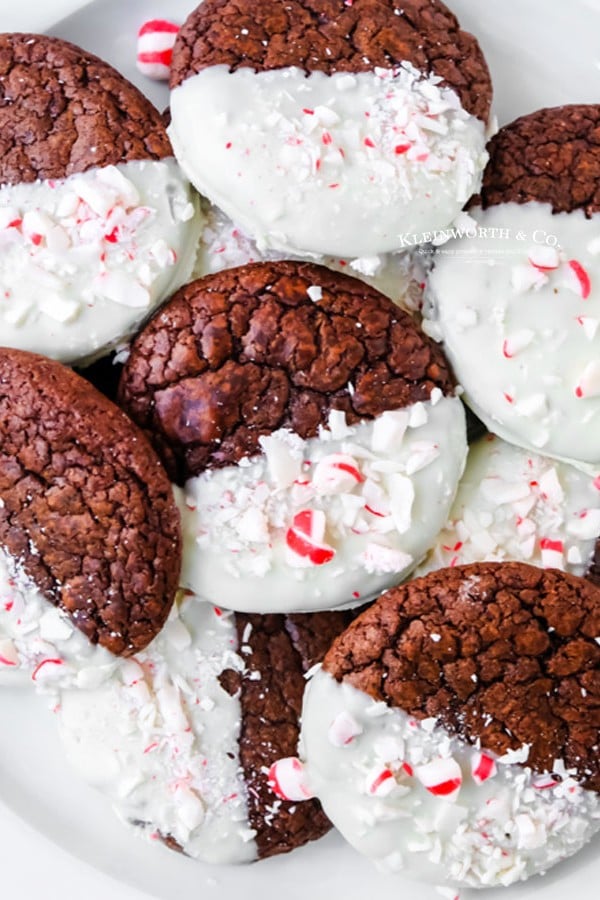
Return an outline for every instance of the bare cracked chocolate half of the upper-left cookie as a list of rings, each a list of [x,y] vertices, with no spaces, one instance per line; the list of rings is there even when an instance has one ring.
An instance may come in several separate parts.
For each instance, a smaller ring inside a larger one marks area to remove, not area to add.
[[[0,35],[0,184],[168,156],[160,114],[108,63],[47,35]]]

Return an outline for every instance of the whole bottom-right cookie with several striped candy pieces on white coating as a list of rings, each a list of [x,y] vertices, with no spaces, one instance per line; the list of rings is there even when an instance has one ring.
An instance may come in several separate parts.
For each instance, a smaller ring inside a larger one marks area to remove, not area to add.
[[[600,591],[522,563],[433,572],[338,638],[302,711],[305,777],[387,871],[492,887],[600,828]]]

